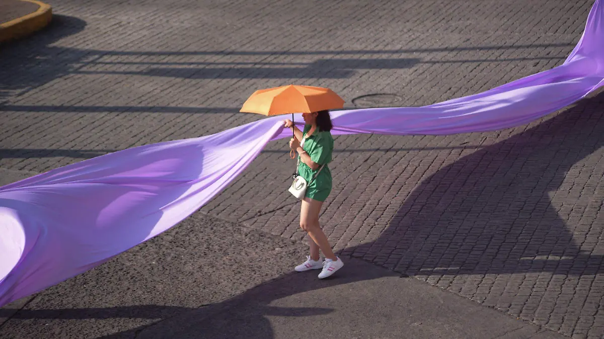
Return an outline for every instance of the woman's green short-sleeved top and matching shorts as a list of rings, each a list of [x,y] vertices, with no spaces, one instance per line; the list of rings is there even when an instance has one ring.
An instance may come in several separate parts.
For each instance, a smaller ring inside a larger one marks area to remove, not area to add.
[[[310,125],[304,126],[304,131],[302,132],[302,138],[306,136],[306,133],[310,130]],[[306,195],[304,197],[311,198],[313,200],[325,201],[329,193],[332,191],[332,173],[329,171],[329,167],[327,167],[327,163],[332,161],[332,153],[333,153],[333,138],[332,133],[329,131],[318,131],[318,128],[309,136],[306,140],[304,140],[304,145],[302,147],[306,153],[310,156],[310,160],[319,164],[319,168],[316,171],[310,169],[306,163],[300,161],[300,165],[298,165],[298,174],[306,180],[306,182],[310,182],[310,185],[306,188]],[[299,156],[298,156],[299,157]],[[323,170],[316,176],[315,179],[313,177],[323,166]]]

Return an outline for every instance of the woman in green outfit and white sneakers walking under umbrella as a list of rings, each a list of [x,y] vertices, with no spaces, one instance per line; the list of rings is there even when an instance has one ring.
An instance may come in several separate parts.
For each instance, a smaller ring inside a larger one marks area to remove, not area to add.
[[[303,131],[289,119],[284,124],[294,131],[295,138],[291,139],[289,147],[300,157],[298,174],[310,183],[300,210],[300,227],[309,236],[310,255],[295,270],[302,272],[323,268],[319,274],[319,279],[323,279],[344,266],[342,260],[333,254],[327,236],[319,226],[321,206],[332,191],[332,174],[327,163],[332,160],[333,138],[330,130],[333,125],[329,110],[303,113],[302,116],[305,123]],[[325,256],[323,264],[319,261],[319,250]]]

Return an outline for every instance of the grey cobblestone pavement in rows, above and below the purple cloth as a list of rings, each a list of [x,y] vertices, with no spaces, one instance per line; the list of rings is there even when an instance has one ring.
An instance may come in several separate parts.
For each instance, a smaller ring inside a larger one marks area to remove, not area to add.
[[[347,107],[481,92],[564,62],[591,5],[57,0],[46,31],[0,52],[0,167],[216,133],[259,119],[237,111],[263,87],[326,86]],[[373,93],[393,95],[354,100]],[[340,136],[324,229],[342,255],[602,337],[603,100],[495,133]],[[303,239],[287,153],[269,145],[202,211]]]

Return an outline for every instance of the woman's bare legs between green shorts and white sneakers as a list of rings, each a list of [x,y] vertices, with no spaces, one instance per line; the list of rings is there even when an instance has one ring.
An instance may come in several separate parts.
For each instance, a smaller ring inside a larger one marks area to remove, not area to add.
[[[325,258],[333,261],[338,258],[333,254],[332,247],[327,240],[327,236],[319,226],[319,213],[321,212],[323,201],[304,198],[300,208],[300,227],[308,233],[310,241],[310,258],[319,259],[319,250],[323,252]]]

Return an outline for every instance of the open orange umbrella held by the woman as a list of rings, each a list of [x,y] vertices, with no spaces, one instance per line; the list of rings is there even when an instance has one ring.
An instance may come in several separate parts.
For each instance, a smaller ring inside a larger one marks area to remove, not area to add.
[[[255,91],[243,103],[239,112],[266,116],[291,113],[294,122],[294,113],[312,113],[343,107],[344,100],[329,88],[288,85]]]

